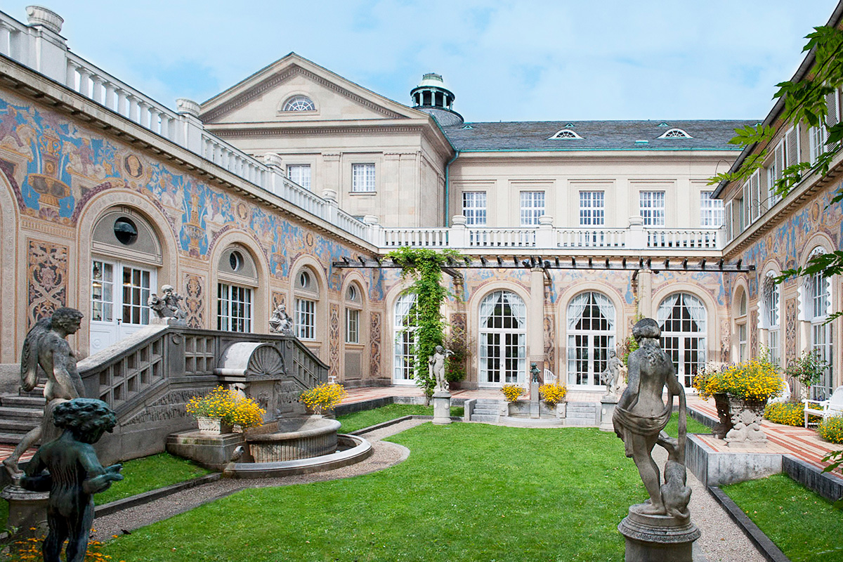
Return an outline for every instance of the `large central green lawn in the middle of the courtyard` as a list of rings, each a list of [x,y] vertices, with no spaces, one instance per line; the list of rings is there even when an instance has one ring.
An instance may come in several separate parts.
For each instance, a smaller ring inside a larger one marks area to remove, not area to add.
[[[133,562],[618,560],[645,499],[623,444],[597,429],[423,424],[404,463],[352,479],[254,488],[108,543]]]

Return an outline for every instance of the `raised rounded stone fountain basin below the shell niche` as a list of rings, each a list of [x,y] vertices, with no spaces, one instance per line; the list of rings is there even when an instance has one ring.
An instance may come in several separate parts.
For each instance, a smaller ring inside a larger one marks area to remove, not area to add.
[[[246,442],[255,463],[282,463],[336,452],[340,422],[316,416],[282,418],[248,431]]]

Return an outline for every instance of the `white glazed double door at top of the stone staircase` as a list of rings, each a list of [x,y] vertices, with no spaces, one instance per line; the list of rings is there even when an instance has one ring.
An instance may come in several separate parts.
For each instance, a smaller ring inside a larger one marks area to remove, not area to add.
[[[155,271],[120,261],[92,260],[90,352],[101,351],[149,324]]]

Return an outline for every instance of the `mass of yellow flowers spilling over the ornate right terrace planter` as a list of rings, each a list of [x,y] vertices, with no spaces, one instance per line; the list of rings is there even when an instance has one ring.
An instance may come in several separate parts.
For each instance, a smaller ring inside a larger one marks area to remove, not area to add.
[[[694,378],[694,388],[703,399],[728,393],[744,400],[765,402],[781,395],[784,381],[776,365],[766,357],[756,357],[720,370],[705,369]]]

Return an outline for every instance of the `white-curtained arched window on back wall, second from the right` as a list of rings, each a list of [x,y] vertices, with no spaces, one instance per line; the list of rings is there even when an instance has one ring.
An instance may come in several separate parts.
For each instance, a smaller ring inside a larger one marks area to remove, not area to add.
[[[568,304],[568,384],[600,384],[615,349],[615,306],[599,292],[583,292]]]

